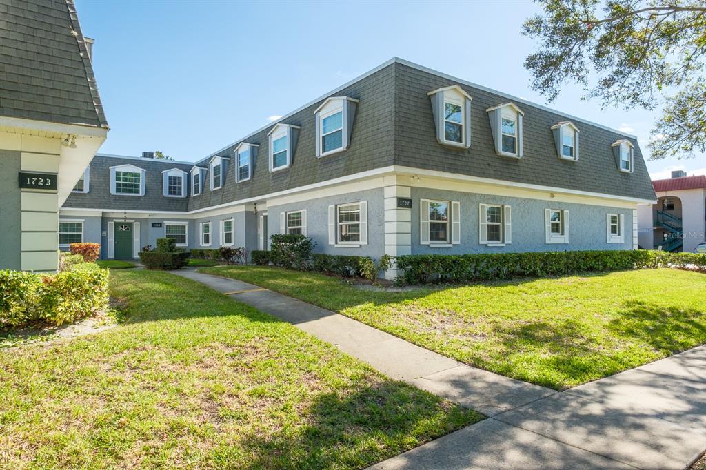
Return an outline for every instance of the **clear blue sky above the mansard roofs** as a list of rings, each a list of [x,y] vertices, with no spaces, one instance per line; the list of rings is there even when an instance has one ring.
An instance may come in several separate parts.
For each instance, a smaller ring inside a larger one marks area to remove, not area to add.
[[[547,104],[522,66],[530,1],[77,0],[112,130],[101,152],[196,161],[393,56]],[[656,114],[600,109],[568,85],[559,111],[638,135]],[[647,161],[706,174],[706,156]]]

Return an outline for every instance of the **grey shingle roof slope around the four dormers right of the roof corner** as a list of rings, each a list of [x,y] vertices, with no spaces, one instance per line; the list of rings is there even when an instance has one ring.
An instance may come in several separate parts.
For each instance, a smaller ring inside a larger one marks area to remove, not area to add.
[[[493,147],[493,134],[486,109],[510,102],[507,97],[404,64],[395,64],[395,68],[395,164],[503,181],[654,199],[650,176],[634,138],[575,121],[580,130],[579,159],[578,162],[562,160],[556,154],[551,126],[570,119],[525,102],[515,102],[525,113],[522,119],[524,155],[520,159],[500,157]],[[436,140],[431,102],[426,94],[449,85],[460,85],[473,98],[471,146],[467,150],[444,147]],[[611,149],[611,143],[624,138],[635,145],[635,171],[632,174],[618,171]]]

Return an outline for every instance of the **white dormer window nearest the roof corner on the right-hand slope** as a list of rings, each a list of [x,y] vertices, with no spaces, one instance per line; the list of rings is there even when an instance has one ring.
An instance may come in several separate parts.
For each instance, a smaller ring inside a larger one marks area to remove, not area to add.
[[[439,88],[427,93],[441,145],[468,148],[471,145],[471,100],[460,86]]]

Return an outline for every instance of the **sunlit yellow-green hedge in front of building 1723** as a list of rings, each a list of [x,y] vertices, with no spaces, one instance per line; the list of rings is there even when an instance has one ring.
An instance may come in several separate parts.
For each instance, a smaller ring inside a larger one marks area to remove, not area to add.
[[[107,306],[108,270],[81,263],[51,275],[0,270],[0,325],[73,322]]]

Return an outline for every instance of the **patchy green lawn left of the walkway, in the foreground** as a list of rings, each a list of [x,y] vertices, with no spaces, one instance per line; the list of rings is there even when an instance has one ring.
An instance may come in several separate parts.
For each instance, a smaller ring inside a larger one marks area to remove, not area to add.
[[[189,279],[111,292],[118,327],[0,350],[0,466],[363,468],[481,418]]]

